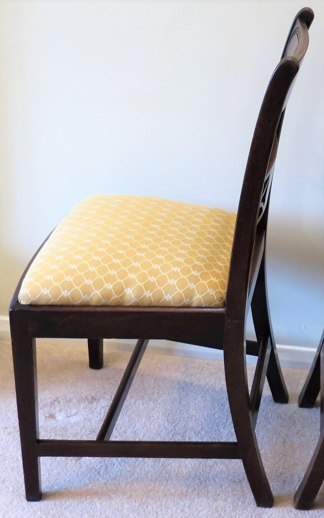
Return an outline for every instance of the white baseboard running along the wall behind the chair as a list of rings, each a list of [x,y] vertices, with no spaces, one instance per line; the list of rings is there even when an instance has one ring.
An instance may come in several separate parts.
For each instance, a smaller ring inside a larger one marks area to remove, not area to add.
[[[0,340],[10,340],[9,317],[0,315]],[[66,339],[69,344],[82,343],[82,340]],[[54,339],[41,339],[40,342],[53,342]],[[135,340],[105,340],[105,347],[112,350],[132,351]],[[223,351],[209,349],[208,347],[192,346],[188,343],[178,343],[168,340],[150,340],[148,350],[156,354],[168,354],[171,356],[186,356],[202,359],[222,359]],[[296,369],[309,369],[313,362],[316,349],[309,347],[293,347],[277,344],[280,364],[283,367]],[[255,356],[247,356],[247,362],[256,363]]]

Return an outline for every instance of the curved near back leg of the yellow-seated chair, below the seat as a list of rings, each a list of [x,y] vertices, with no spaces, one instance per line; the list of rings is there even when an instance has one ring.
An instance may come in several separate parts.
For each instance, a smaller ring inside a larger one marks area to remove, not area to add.
[[[231,332],[226,333],[226,335],[224,368],[238,449],[257,506],[272,507],[273,495],[262,464],[255,431],[251,424],[244,339],[243,337],[240,339],[240,334],[235,332],[233,334]]]

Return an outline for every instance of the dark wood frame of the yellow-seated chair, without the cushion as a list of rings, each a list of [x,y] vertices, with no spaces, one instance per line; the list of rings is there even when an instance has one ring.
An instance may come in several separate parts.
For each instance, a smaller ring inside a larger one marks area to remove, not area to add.
[[[288,393],[278,362],[267,299],[268,202],[286,104],[308,46],[308,28],[313,17],[313,11],[304,8],[294,19],[281,61],[263,99],[238,206],[225,307],[21,305],[18,294],[30,265],[27,266],[9,310],[27,500],[41,498],[39,458],[42,456],[240,458],[257,505],[273,505],[255,434],[265,376],[274,401],[287,403]],[[257,341],[245,339],[250,307]],[[136,344],[96,440],[40,439],[35,339],[87,338],[90,367],[99,369],[103,365],[103,338],[138,337],[146,338],[140,338]],[[235,442],[109,440],[149,339],[224,350]],[[246,354],[258,356],[250,393]]]

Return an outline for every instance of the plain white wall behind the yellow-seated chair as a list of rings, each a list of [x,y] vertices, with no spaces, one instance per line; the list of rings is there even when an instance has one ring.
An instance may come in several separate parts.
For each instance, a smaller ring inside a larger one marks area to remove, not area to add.
[[[81,198],[137,193],[236,210],[260,103],[301,2],[4,1],[0,313]],[[277,341],[324,325],[324,2],[290,99],[269,229]]]

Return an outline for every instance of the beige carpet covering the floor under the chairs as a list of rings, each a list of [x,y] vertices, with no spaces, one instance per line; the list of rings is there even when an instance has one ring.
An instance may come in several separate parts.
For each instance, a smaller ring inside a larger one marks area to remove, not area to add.
[[[40,436],[95,438],[129,356],[106,351],[93,371],[86,343],[39,346]],[[2,518],[324,516],[324,496],[316,510],[292,508],[319,433],[319,409],[297,407],[305,371],[284,369],[289,405],[274,404],[265,385],[257,435],[275,507],[259,509],[241,461],[218,459],[44,458],[43,500],[26,502],[8,343],[0,369]],[[235,440],[223,363],[146,353],[112,438]]]

